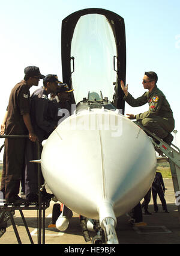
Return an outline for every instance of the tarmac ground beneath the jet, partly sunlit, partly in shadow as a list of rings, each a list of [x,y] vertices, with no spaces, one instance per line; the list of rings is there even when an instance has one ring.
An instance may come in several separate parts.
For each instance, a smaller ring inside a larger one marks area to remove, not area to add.
[[[147,226],[133,227],[130,225],[127,214],[118,217],[116,226],[116,234],[118,236],[119,244],[179,244],[180,243],[180,219],[177,206],[175,204],[175,193],[173,190],[172,179],[164,179],[166,187],[165,199],[169,213],[164,213],[160,199],[157,199],[159,212],[154,213],[153,201],[149,203],[149,212],[152,215],[143,214],[143,222]],[[52,207],[55,202],[50,201],[50,207],[46,209],[46,230],[45,230],[45,244],[53,245],[91,245],[91,241],[85,242],[82,235],[82,228],[80,226],[80,219],[77,213],[73,213],[70,225],[65,232],[60,232],[56,228],[48,228],[52,220]],[[34,244],[38,243],[38,211],[37,210],[23,210],[26,222],[28,224],[29,232],[31,233]],[[28,234],[26,233],[22,217],[19,210],[15,211],[14,221],[16,223],[17,231],[19,233],[22,244],[30,244]],[[17,239],[14,234],[14,229],[11,220],[7,222],[6,232],[0,238],[0,245],[17,245]],[[96,234],[90,232],[91,238]],[[79,254],[80,255],[80,254]]]

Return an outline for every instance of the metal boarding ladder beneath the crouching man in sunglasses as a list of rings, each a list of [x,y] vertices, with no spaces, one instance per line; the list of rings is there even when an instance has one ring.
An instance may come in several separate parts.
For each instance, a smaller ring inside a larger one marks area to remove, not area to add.
[[[143,131],[148,133],[152,138],[159,142],[157,144],[153,139],[152,143],[154,145],[155,151],[158,152],[161,157],[158,158],[158,162],[160,161],[168,161],[170,165],[170,171],[172,173],[173,187],[175,191],[175,198],[178,202],[178,196],[180,196],[180,149],[171,144],[170,146],[161,140],[158,136],[151,131],[147,130],[140,122],[135,121],[136,125],[138,125]],[[180,204],[180,203],[179,203]],[[179,220],[180,220],[180,205],[176,204],[178,207]]]

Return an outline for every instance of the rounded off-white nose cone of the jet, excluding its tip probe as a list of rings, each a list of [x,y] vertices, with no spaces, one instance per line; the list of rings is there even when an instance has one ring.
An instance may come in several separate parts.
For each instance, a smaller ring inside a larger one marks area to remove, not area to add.
[[[120,216],[143,198],[154,180],[154,147],[144,131],[121,114],[104,111],[101,118],[98,109],[82,112],[65,119],[44,145],[44,178],[59,201],[76,213],[98,219],[98,208],[106,200]],[[110,129],[106,115],[115,117]],[[70,130],[74,121],[76,129]],[[80,130],[82,122],[89,122],[85,130]]]

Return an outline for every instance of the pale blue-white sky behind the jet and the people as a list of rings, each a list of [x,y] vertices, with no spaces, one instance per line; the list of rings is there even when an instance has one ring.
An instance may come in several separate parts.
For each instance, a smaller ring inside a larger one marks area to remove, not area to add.
[[[134,98],[143,95],[145,71],[158,74],[157,86],[166,95],[175,117],[178,133],[173,143],[180,147],[179,0],[0,0],[0,6],[0,122],[11,89],[23,79],[26,66],[38,66],[44,75],[56,73],[62,81],[62,20],[78,10],[104,8],[125,21],[128,91]],[[42,85],[41,81],[38,87]],[[32,87],[31,92],[35,89]],[[146,110],[147,104],[138,108],[125,104],[125,114]]]

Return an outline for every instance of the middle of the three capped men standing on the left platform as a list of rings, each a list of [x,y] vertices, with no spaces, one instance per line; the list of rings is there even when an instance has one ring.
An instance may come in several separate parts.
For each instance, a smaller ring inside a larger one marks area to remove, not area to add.
[[[37,89],[31,95],[30,116],[34,131],[38,136],[40,143],[40,154],[43,150],[41,143],[46,140],[58,125],[58,106],[48,98],[50,93],[55,93],[58,89],[57,75],[46,75],[43,80],[43,87]],[[29,202],[38,201],[38,166],[31,163],[31,160],[37,160],[37,145],[28,142],[25,154],[25,194]],[[41,175],[41,184],[44,183],[43,175]],[[51,194],[42,192],[43,199],[49,199]]]

